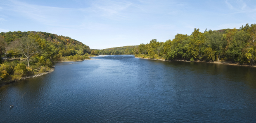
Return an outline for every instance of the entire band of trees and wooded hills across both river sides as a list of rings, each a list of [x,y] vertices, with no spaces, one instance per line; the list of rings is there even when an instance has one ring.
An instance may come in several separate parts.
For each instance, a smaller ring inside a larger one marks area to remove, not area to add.
[[[54,61],[90,59],[93,55],[135,55],[135,57],[186,61],[228,61],[255,64],[256,24],[239,29],[194,29],[191,35],[176,34],[173,40],[152,39],[139,46],[123,46],[103,50],[47,32],[0,33],[0,81],[47,72]]]

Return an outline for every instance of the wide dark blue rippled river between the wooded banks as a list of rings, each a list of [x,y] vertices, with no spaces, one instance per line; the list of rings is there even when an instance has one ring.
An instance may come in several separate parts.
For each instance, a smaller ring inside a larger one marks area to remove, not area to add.
[[[1,87],[0,122],[256,122],[256,68],[97,58]]]

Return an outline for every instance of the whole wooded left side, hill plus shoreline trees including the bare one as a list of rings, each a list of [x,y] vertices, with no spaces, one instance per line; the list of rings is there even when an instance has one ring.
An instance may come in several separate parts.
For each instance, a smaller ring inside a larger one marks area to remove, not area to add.
[[[90,59],[90,47],[47,32],[0,33],[0,81],[47,72],[54,61]]]

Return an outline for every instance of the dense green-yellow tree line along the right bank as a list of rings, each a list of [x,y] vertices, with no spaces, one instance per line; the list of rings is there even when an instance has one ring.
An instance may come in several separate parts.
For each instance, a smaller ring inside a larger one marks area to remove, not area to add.
[[[255,64],[256,24],[246,24],[239,29],[194,29],[190,36],[176,34],[173,40],[141,43],[135,57],[187,61],[228,61]]]

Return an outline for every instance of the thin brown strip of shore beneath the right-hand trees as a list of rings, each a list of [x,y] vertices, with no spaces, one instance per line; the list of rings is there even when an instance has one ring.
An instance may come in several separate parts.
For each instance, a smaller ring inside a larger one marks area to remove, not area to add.
[[[135,57],[135,58],[140,58],[140,59],[149,59],[149,58],[142,58],[142,57]],[[166,62],[171,62],[171,60],[165,60],[165,59],[150,59],[150,60],[159,60],[159,61],[166,61]],[[186,60],[173,60],[173,61],[179,61],[179,62],[192,62],[192,61],[186,61]],[[226,64],[226,65],[233,65],[233,66],[246,66],[246,67],[256,67],[256,65],[250,65],[250,64],[239,64],[239,63],[233,63],[233,62],[227,62],[227,61],[211,61],[211,62],[206,62],[206,61],[194,61],[194,62],[203,62],[203,63],[212,63],[212,64]]]

